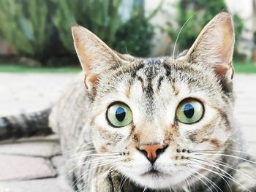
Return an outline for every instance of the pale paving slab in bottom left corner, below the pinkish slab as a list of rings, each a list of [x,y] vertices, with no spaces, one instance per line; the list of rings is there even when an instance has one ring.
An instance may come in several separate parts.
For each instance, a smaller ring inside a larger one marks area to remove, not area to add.
[[[68,192],[62,181],[57,178],[0,182],[0,192]]]

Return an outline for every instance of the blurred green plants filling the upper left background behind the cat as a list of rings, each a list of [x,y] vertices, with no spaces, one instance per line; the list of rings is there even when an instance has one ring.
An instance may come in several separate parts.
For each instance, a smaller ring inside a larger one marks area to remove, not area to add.
[[[121,53],[145,56],[158,10],[146,18],[144,0],[1,0],[0,36],[19,55],[45,62],[59,52],[74,55],[70,26],[78,23]]]

